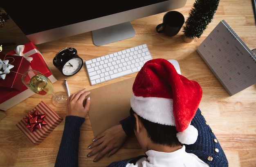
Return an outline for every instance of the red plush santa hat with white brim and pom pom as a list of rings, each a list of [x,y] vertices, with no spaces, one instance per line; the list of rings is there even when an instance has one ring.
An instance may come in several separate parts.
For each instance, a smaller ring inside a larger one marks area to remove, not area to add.
[[[162,125],[176,126],[180,143],[193,144],[198,130],[190,125],[202,98],[202,88],[178,74],[166,59],[144,64],[132,86],[130,104],[142,118]]]

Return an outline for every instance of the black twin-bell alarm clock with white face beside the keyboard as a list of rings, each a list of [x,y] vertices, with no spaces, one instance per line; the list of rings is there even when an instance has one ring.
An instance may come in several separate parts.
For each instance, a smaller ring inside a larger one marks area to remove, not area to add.
[[[63,48],[55,55],[53,64],[63,75],[71,76],[81,70],[83,59],[77,55],[75,48]]]

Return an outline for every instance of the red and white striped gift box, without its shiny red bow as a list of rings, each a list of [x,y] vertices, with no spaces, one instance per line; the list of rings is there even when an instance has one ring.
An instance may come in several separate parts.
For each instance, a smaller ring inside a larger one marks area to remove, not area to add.
[[[34,132],[31,132],[30,129],[26,127],[26,121],[22,119],[16,124],[16,126],[27,137],[27,139],[31,141],[31,143],[40,144],[54,130],[54,128],[61,123],[63,119],[43,101],[36,105],[36,107],[31,110],[30,113],[33,113],[35,110],[38,112],[38,114],[46,115],[44,121],[47,123],[47,125],[42,126],[41,129],[36,128]],[[24,118],[27,117],[28,114]]]

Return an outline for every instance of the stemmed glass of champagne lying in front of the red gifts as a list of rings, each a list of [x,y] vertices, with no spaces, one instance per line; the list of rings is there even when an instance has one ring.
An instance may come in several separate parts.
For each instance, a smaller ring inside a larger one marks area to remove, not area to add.
[[[52,82],[37,70],[27,70],[22,75],[22,83],[33,92],[40,95],[52,94],[52,103],[56,107],[62,107],[67,103],[67,94],[65,92],[57,92],[54,94],[54,86]]]

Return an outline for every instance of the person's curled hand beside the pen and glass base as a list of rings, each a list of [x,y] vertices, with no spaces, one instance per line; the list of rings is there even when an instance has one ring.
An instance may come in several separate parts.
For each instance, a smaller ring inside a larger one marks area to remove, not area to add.
[[[90,108],[90,97],[87,97],[90,92],[86,92],[85,89],[75,92],[67,99],[67,116],[80,116],[85,117]],[[87,98],[86,98],[87,97]],[[83,105],[85,103],[85,105]]]

